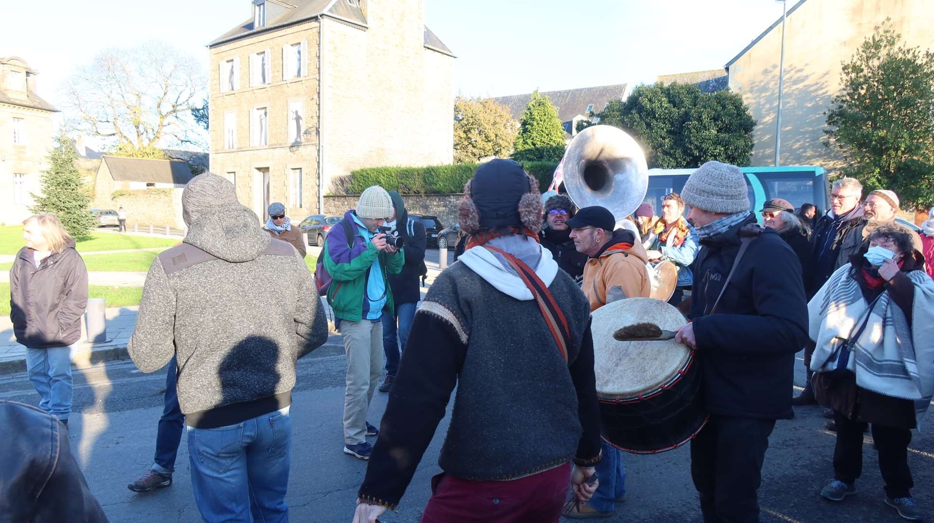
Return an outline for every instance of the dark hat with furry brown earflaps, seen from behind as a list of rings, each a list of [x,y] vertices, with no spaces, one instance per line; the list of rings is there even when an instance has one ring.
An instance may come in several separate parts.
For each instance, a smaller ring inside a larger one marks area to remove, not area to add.
[[[460,230],[475,234],[494,227],[542,229],[542,199],[538,180],[520,163],[495,159],[481,164],[464,185],[458,204]]]

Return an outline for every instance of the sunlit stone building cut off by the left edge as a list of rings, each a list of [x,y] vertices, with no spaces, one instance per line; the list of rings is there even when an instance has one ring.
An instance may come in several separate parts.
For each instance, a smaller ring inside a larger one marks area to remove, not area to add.
[[[35,93],[36,75],[21,58],[0,58],[0,224],[19,225],[32,215],[32,193],[48,168],[58,109]]]

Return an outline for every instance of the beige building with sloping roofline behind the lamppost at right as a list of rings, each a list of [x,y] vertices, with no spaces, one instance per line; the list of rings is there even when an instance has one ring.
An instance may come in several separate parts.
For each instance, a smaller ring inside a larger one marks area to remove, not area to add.
[[[891,18],[892,29],[911,47],[934,49],[934,3],[930,0],[800,0],[788,2],[785,21],[785,90],[782,104],[782,165],[842,165],[823,145],[833,96],[841,88],[841,63],[849,62],[873,28]],[[743,95],[756,119],[753,165],[772,165],[778,108],[782,19],[726,65],[729,89]]]

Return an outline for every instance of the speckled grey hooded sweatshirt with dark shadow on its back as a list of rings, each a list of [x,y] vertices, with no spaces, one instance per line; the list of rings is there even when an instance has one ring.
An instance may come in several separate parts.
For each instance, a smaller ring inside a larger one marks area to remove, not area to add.
[[[188,235],[146,276],[130,357],[151,373],[177,356],[178,403],[192,427],[288,406],[295,361],[328,336],[311,273],[222,177],[192,178],[182,215]]]

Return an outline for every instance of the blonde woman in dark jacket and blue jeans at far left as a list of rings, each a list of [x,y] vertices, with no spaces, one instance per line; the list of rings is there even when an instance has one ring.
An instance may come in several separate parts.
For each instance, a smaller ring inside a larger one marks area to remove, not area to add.
[[[53,214],[23,221],[22,239],[26,246],[9,271],[9,317],[17,343],[26,346],[26,372],[39,393],[39,408],[67,426],[71,353],[88,305],[88,270]]]

